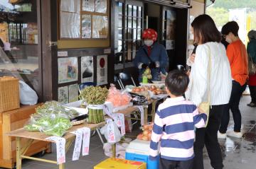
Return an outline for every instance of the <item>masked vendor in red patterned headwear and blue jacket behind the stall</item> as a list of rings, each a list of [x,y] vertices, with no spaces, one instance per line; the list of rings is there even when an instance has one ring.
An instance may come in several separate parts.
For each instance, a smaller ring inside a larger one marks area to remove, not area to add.
[[[160,80],[160,72],[166,74],[168,55],[163,45],[156,42],[157,33],[153,29],[146,29],[142,34],[144,45],[138,50],[134,66],[139,69],[139,82],[147,67],[151,70],[152,81]]]

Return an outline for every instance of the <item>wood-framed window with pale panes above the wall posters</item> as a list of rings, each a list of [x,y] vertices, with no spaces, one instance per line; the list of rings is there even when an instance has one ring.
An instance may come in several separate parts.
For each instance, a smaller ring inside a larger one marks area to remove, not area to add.
[[[107,38],[107,5],[107,0],[60,0],[60,39]]]

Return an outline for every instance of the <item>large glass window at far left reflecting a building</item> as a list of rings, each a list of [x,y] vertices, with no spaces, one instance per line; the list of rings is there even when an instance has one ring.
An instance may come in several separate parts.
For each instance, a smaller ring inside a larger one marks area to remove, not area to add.
[[[0,76],[15,76],[41,93],[36,9],[36,0],[0,1]]]

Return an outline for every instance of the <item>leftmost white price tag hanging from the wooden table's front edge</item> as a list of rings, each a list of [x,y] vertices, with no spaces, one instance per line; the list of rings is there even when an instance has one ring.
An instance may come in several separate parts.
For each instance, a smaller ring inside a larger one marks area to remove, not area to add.
[[[60,136],[49,136],[48,140],[55,141],[57,151],[57,163],[65,163],[65,139]]]

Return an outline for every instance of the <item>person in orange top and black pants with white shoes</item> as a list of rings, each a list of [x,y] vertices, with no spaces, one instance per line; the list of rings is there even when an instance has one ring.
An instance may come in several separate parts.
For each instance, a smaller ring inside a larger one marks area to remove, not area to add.
[[[232,91],[227,110],[223,112],[223,117],[220,123],[218,132],[219,139],[225,139],[226,136],[233,136],[237,138],[242,137],[241,133],[241,113],[239,110],[239,102],[242,97],[242,92],[245,91],[246,81],[248,79],[248,59],[245,45],[238,37],[239,26],[235,21],[230,21],[223,25],[221,33],[225,40],[229,43],[227,48],[227,56],[230,62],[232,75]],[[233,114],[235,122],[234,131],[227,132],[228,123],[230,120],[230,112]]]

